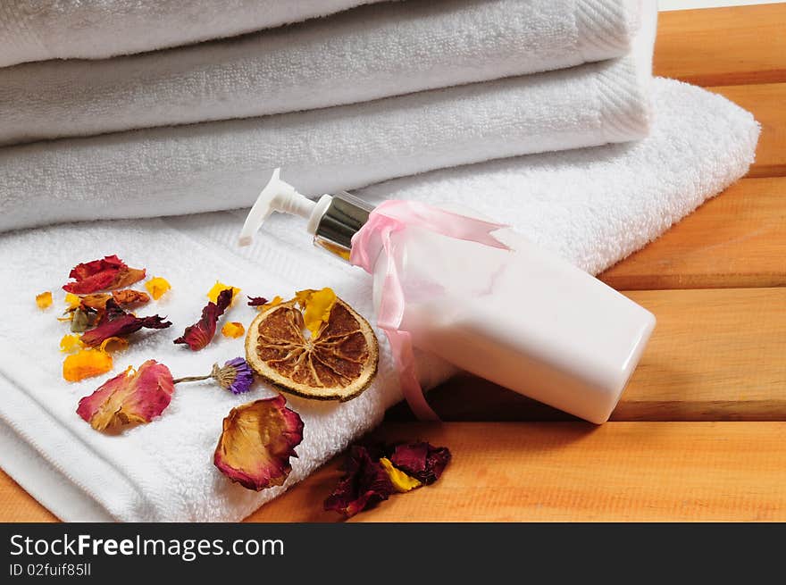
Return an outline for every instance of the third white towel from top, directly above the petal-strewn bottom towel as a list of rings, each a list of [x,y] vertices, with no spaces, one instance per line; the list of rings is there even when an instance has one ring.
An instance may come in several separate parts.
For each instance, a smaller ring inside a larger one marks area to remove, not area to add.
[[[458,164],[643,138],[650,24],[634,54],[561,71],[0,148],[0,230],[244,207],[278,166],[301,192],[319,196]]]

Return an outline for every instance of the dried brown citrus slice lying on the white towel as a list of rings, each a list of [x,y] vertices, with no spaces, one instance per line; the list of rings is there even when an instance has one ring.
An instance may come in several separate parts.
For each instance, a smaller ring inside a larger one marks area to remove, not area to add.
[[[259,313],[248,327],[246,359],[264,379],[317,400],[356,397],[377,372],[379,347],[368,322],[340,298],[311,335],[298,298]]]

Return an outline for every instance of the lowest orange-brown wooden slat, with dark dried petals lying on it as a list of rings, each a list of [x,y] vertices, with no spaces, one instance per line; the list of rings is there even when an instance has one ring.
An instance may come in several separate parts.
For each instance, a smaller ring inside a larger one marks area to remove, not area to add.
[[[358,522],[786,520],[786,423],[385,424],[386,440],[445,445],[442,479]],[[334,461],[249,518],[323,522]]]

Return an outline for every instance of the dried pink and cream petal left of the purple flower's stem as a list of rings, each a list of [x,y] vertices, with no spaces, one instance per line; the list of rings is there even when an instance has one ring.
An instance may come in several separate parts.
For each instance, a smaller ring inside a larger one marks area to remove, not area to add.
[[[147,360],[136,372],[129,368],[79,400],[77,414],[96,430],[150,422],[169,406],[174,391],[169,368]]]

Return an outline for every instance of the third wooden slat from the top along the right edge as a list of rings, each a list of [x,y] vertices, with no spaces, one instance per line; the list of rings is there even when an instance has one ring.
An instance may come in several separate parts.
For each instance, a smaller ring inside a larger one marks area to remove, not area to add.
[[[603,272],[618,290],[786,286],[786,178],[744,179]]]

